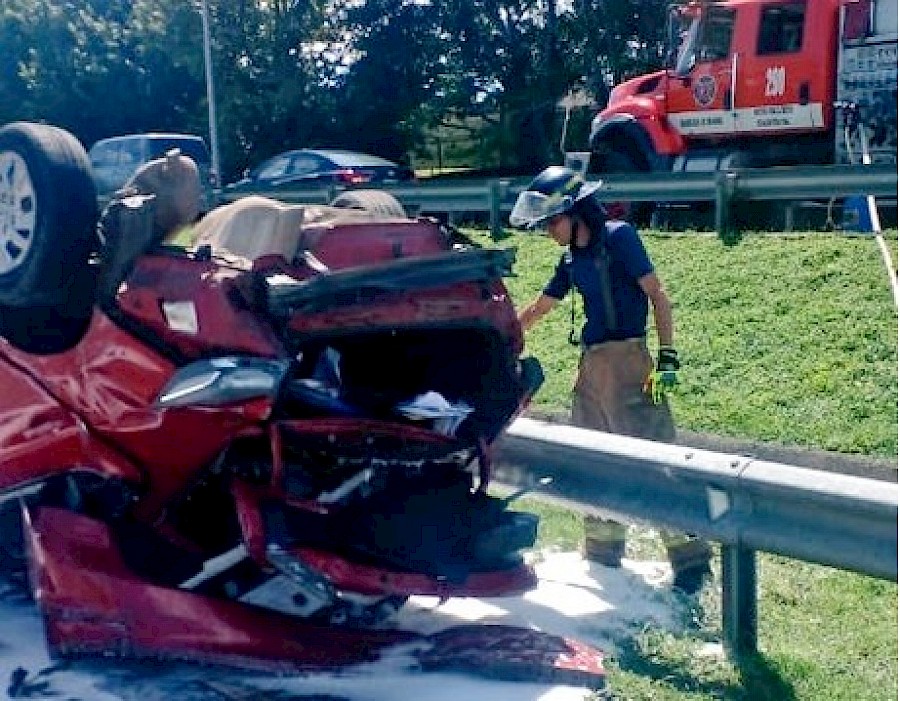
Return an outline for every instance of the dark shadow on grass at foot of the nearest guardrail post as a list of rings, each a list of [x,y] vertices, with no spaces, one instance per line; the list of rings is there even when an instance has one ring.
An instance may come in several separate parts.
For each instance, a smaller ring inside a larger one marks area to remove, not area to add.
[[[708,695],[726,701],[796,701],[790,682],[762,655],[747,655],[735,662],[739,683],[704,680],[690,659],[665,659],[641,649],[637,640],[622,641],[618,667],[624,672],[662,682],[674,690]],[[614,697],[615,698],[615,697]]]

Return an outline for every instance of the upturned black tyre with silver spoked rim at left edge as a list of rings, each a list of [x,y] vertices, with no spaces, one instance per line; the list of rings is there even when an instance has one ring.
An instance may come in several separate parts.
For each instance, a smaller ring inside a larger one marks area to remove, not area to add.
[[[65,305],[97,245],[97,192],[78,140],[46,124],[0,128],[0,304]]]

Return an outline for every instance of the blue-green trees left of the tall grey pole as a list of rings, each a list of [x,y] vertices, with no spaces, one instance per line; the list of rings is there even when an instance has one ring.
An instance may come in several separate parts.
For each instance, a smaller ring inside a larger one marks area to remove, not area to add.
[[[0,123],[50,122],[87,145],[115,133],[202,125],[202,72],[175,42],[185,14],[199,26],[186,7],[176,0],[4,4],[0,92],[17,99],[0,102]]]

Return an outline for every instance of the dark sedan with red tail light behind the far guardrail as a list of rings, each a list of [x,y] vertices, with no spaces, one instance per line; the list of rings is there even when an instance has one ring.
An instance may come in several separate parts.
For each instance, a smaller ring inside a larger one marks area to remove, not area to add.
[[[272,156],[225,186],[226,193],[325,185],[386,185],[415,179],[405,166],[380,156],[339,149],[297,149]]]

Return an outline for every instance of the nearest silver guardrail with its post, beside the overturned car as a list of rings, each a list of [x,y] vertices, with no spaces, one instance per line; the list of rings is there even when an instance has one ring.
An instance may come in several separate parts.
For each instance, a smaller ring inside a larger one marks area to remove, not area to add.
[[[897,581],[896,484],[524,418],[494,463],[510,487],[721,543],[735,655],[756,650],[756,551]]]

